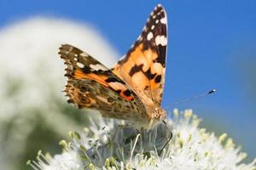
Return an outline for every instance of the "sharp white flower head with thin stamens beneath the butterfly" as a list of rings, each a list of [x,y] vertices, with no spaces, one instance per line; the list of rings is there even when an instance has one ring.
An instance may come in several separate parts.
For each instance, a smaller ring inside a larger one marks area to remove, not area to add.
[[[174,120],[145,132],[132,128],[119,127],[123,122],[103,121],[102,117],[92,120],[89,128],[82,133],[70,133],[73,142],[62,142],[67,153],[76,153],[73,160],[84,169],[189,169],[189,170],[255,170],[256,159],[249,164],[241,161],[246,157],[240,148],[227,139],[224,133],[216,137],[198,127],[200,119],[191,110],[178,113],[174,111]],[[99,122],[99,123],[96,123]],[[161,148],[170,137],[172,140],[160,153]],[[52,160],[49,159],[48,166]],[[59,159],[64,165],[67,159]],[[38,161],[39,165],[45,164]],[[72,165],[73,165],[72,164]],[[35,166],[35,163],[31,164]],[[56,169],[67,169],[67,167]],[[71,168],[71,167],[70,167]],[[72,167],[73,168],[73,167]],[[79,170],[80,167],[76,168]],[[44,168],[41,166],[42,170]]]

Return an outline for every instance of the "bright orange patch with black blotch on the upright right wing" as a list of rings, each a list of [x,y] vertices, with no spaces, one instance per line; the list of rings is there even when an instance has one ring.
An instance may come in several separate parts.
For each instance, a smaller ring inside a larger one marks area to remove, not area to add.
[[[113,72],[139,91],[148,87],[158,88],[153,79],[156,75],[162,74],[164,68],[153,63],[157,57],[158,54],[150,48],[143,51],[143,43],[141,43],[124,62],[114,67]]]

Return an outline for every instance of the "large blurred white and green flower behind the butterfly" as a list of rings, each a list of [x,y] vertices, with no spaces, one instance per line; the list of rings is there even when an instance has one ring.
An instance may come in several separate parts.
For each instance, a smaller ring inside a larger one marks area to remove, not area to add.
[[[93,41],[93,42],[91,42]],[[86,125],[87,116],[67,105],[61,43],[82,48],[113,65],[117,54],[95,28],[36,17],[0,31],[0,169],[26,169],[38,149],[60,152],[58,141]]]

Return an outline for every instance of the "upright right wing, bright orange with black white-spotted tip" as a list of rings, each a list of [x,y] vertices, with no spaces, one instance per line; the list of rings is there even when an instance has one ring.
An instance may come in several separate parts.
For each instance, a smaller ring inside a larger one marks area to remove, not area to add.
[[[144,105],[161,103],[166,70],[166,22],[165,9],[158,5],[137,42],[113,67],[113,72],[131,86]]]

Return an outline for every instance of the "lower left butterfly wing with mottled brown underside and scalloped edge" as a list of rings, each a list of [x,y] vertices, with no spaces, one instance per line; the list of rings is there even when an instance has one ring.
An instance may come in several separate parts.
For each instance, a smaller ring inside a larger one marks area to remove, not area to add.
[[[59,51],[67,65],[65,92],[68,102],[79,108],[96,109],[103,116],[140,121],[145,119],[145,108],[140,99],[112,71],[71,45]]]

